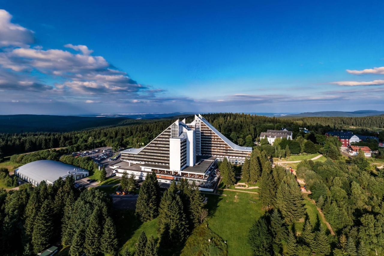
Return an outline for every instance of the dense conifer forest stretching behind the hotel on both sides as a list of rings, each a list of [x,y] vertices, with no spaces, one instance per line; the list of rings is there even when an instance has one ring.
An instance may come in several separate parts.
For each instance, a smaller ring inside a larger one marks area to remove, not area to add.
[[[304,135],[300,127],[306,127],[316,134],[325,134],[327,131],[341,129],[346,125],[363,125],[366,128],[384,127],[384,116],[368,116],[361,118],[270,118],[238,113],[215,113],[204,117],[212,123],[223,135],[239,145],[252,146],[253,141],[261,132],[267,129],[280,130],[283,127],[293,131],[293,136]],[[187,118],[191,121],[193,116]],[[0,133],[0,158],[2,155],[31,152],[49,148],[70,146],[70,151],[90,149],[94,146],[122,146],[139,147],[147,144],[161,131],[165,130],[174,119],[169,120],[143,120],[141,124],[116,127],[101,127],[65,133],[28,132],[28,133]],[[129,122],[125,120],[123,122]],[[349,123],[348,123],[349,122]],[[329,123],[329,124],[327,124]],[[361,135],[379,136],[384,140],[384,132],[362,129],[350,129]]]

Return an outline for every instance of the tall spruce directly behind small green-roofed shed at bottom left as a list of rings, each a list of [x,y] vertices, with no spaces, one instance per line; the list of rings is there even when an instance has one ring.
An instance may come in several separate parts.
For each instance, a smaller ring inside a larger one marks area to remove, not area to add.
[[[46,199],[37,214],[32,233],[33,251],[36,254],[50,245],[52,234],[52,200]]]

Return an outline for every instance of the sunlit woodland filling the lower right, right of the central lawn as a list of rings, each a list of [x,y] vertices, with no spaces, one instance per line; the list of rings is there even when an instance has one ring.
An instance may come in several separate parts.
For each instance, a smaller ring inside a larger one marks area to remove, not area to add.
[[[228,168],[225,166],[230,168],[223,161],[220,173],[222,168]],[[259,199],[266,209],[248,234],[253,255],[384,253],[384,172],[374,170],[364,153],[359,152],[349,164],[340,158],[328,158],[325,162],[305,160],[298,164],[297,177],[305,180],[310,198],[323,211],[335,236],[319,220],[314,225],[311,223],[296,177],[281,166],[272,168],[265,151],[255,148],[242,169],[245,182],[260,183]],[[226,173],[225,170],[223,175]],[[223,177],[223,181],[226,185],[233,184],[232,178]],[[299,234],[295,223],[303,218],[304,226]]]

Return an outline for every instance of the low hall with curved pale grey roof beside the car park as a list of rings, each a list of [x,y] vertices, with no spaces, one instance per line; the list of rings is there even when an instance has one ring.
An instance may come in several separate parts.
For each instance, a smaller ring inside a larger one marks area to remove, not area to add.
[[[59,161],[38,160],[15,169],[15,175],[34,186],[38,186],[43,180],[52,185],[58,178],[65,179],[70,175],[78,180],[88,176],[89,171]]]

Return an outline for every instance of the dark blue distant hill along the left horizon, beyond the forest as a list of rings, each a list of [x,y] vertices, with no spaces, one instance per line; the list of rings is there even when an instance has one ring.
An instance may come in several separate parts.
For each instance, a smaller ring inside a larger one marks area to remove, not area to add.
[[[119,123],[139,123],[126,117],[88,117],[51,115],[0,115],[0,133],[22,132],[66,132],[97,126],[118,125]]]

